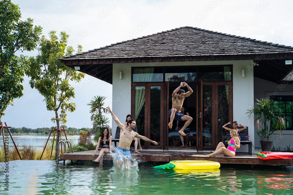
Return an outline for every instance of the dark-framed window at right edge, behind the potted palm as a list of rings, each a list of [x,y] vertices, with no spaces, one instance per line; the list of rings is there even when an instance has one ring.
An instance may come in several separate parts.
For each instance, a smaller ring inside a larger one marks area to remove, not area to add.
[[[282,111],[282,118],[285,121],[285,125],[287,130],[293,130],[292,127],[292,104],[293,104],[293,96],[272,96],[270,99],[277,102],[279,105],[279,108],[281,108]]]

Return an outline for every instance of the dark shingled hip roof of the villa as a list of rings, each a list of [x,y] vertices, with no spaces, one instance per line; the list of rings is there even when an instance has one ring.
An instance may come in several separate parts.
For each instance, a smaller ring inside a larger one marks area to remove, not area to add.
[[[114,43],[62,60],[280,53],[293,53],[293,47],[186,26]]]

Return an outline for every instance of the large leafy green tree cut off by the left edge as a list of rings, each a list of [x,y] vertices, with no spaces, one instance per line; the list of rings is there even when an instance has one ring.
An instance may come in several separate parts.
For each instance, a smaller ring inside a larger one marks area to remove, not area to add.
[[[0,122],[13,99],[23,96],[22,82],[27,56],[15,55],[16,51],[35,49],[42,32],[40,26],[33,27],[33,20],[21,21],[18,5],[0,0]]]

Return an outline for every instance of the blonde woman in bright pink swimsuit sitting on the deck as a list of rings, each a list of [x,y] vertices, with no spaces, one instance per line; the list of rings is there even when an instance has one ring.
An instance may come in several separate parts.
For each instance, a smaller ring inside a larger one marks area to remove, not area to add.
[[[214,153],[207,154],[205,156],[216,156],[219,153],[222,153],[224,156],[235,156],[236,148],[240,148],[240,139],[237,137],[237,132],[235,129],[231,129],[230,135],[232,138],[229,140],[227,148],[223,142],[220,142]]]

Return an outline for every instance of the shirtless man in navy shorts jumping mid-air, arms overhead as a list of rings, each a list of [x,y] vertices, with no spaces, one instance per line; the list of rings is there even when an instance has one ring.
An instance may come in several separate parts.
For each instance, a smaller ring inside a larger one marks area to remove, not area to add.
[[[183,89],[180,89],[181,87],[187,87],[188,92],[185,93],[185,91]],[[176,93],[177,92],[177,93]],[[185,136],[186,134],[183,132],[183,130],[190,124],[190,122],[192,121],[192,118],[190,116],[187,115],[183,115],[181,114],[180,111],[183,105],[183,101],[186,97],[190,96],[190,94],[193,93],[193,90],[188,86],[188,84],[186,84],[185,82],[181,82],[179,87],[177,87],[173,94],[172,94],[172,109],[169,110],[168,114],[170,117],[170,122],[168,124],[169,128],[172,129],[172,123],[173,120],[187,120],[184,124],[184,126],[179,130],[179,133],[183,136]]]

